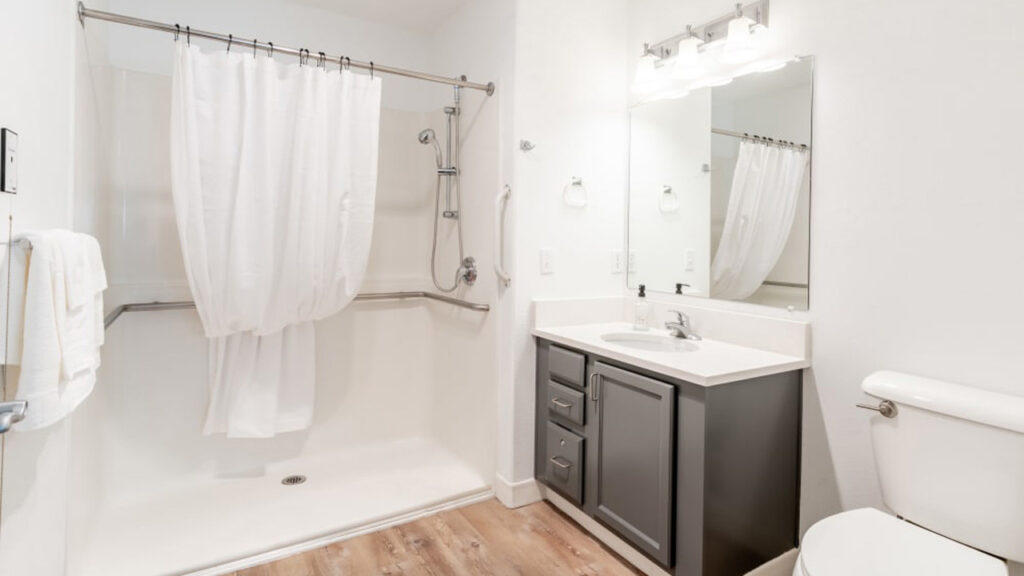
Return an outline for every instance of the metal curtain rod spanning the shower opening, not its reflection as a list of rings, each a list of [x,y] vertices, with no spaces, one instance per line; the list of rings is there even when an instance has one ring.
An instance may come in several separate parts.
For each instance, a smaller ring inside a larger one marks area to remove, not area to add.
[[[316,64],[323,63],[327,66],[327,63],[336,64],[339,67],[344,65],[346,68],[358,68],[361,70],[369,70],[372,73],[381,74],[393,74],[395,76],[404,76],[406,78],[416,78],[418,80],[426,80],[428,82],[437,82],[438,84],[449,84],[451,86],[461,86],[463,88],[473,88],[475,90],[482,90],[492,95],[495,93],[495,83],[487,82],[486,84],[480,84],[479,82],[470,82],[466,80],[466,77],[461,78],[446,78],[444,76],[437,76],[436,74],[427,74],[425,72],[416,72],[413,70],[406,70],[401,68],[394,68],[390,66],[380,66],[372,61],[359,61],[353,60],[346,56],[329,56],[324,52],[317,52],[311,54],[309,50],[305,48],[289,48],[287,46],[276,46],[272,42],[260,42],[256,39],[246,39],[241,37],[236,37],[232,35],[217,34],[215,32],[207,32],[204,30],[197,30],[189,27],[181,27],[176,24],[164,24],[154,20],[147,20],[143,18],[135,18],[131,16],[125,16],[122,14],[115,14],[114,12],[104,12],[102,10],[94,10],[92,8],[87,8],[84,3],[78,3],[78,19],[85,26],[85,18],[94,18],[99,20],[113,22],[116,24],[125,24],[128,26],[134,26],[138,28],[147,28],[150,30],[157,30],[160,32],[167,32],[173,34],[175,39],[181,35],[186,35],[186,38],[206,38],[208,40],[216,40],[218,42],[223,42],[228,45],[228,49],[232,45],[237,45],[240,50],[250,49],[250,50],[265,50],[269,55],[281,52],[283,54],[289,54],[293,56],[298,56],[300,61],[309,61],[310,55],[313,57],[313,61]]]

